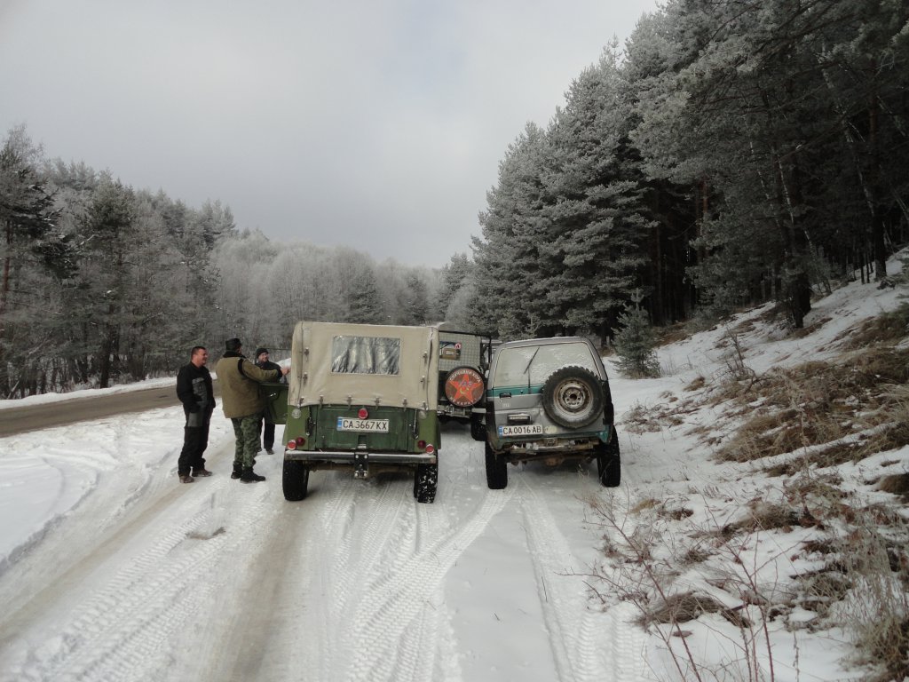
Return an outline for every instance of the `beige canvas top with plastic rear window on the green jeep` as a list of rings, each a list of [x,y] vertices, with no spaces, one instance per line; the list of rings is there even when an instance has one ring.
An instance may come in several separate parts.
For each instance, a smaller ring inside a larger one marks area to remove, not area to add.
[[[287,403],[435,410],[438,347],[432,326],[298,322]]]

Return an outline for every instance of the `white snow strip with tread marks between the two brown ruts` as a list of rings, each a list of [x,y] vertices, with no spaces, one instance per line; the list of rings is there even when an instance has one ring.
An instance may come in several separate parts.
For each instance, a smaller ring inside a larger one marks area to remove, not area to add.
[[[229,488],[231,485],[234,487]],[[196,509],[182,515],[191,520],[160,531],[153,540],[144,540],[145,549],[136,557],[123,557],[128,547],[107,557],[106,563],[119,562],[125,567],[99,591],[77,603],[72,611],[75,618],[59,630],[46,623],[37,624],[33,629],[39,630],[35,633],[38,644],[26,649],[24,663],[9,671],[13,677],[2,679],[106,682],[147,678],[150,668],[164,674],[170,637],[215,592],[215,582],[198,577],[215,576],[220,558],[255,535],[255,527],[264,516],[265,489],[240,491],[235,483],[225,480],[212,495],[225,491],[235,505],[235,520],[229,531],[207,539],[189,539],[212,517],[211,509],[201,513]],[[186,510],[198,504],[197,499],[189,499],[181,507]],[[157,520],[147,515],[144,518],[146,526]],[[83,588],[90,587],[91,577],[86,582],[89,585]]]

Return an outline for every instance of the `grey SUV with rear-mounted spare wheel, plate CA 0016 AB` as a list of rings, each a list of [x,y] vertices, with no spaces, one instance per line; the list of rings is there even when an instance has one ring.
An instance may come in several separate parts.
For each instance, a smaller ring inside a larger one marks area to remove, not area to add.
[[[621,469],[603,361],[578,336],[511,341],[495,351],[486,385],[486,483],[508,485],[507,464],[596,460],[604,486]]]

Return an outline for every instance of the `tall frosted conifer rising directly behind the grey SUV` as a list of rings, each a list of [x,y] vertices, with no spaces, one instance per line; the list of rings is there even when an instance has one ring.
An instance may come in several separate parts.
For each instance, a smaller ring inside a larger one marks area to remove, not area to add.
[[[609,336],[644,264],[652,221],[631,164],[629,115],[612,45],[574,80],[549,131],[561,171],[548,178],[546,300],[569,333]]]

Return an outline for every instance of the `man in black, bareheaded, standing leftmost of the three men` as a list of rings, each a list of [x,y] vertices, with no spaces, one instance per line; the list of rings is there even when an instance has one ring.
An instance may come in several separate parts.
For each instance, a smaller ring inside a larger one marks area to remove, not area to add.
[[[208,373],[208,351],[205,346],[193,346],[189,364],[182,366],[176,376],[176,396],[183,403],[186,426],[183,429],[183,450],[177,461],[176,473],[181,483],[192,483],[193,476],[211,476],[205,469],[202,454],[208,446],[208,425],[215,409],[212,376]]]

